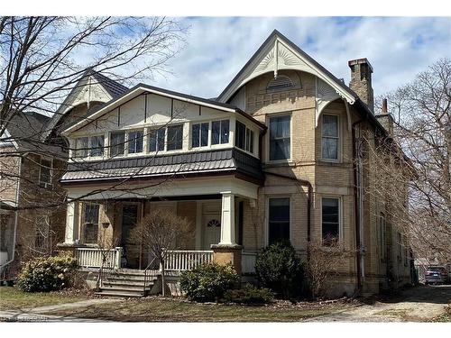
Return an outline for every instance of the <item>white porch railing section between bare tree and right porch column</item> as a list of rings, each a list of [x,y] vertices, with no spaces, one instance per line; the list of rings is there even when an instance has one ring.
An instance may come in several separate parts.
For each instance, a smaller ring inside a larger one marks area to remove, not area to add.
[[[211,263],[213,251],[168,251],[164,260],[164,269],[167,271],[182,271],[194,269],[199,264]]]

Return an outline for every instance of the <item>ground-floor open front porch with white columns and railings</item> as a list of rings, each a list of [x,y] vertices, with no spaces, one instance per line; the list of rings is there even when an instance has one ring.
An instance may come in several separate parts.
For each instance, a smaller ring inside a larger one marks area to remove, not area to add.
[[[192,238],[170,251],[165,271],[193,269],[198,264],[231,262],[243,274],[254,273],[256,254],[244,252],[243,206],[248,196],[226,192],[209,196],[173,196],[149,199],[90,199],[68,207],[66,241],[82,269],[148,268],[152,255],[131,233],[144,215],[165,209],[189,221]],[[158,265],[157,265],[158,268]]]

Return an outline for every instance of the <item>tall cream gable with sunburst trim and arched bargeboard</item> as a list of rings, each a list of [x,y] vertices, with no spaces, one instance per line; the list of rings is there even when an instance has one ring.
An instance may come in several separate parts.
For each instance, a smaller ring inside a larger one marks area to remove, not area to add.
[[[279,69],[298,69],[312,73],[333,87],[336,93],[351,105],[358,98],[353,90],[321,66],[318,61],[281,32],[274,30],[217,97],[217,101],[228,102],[236,91],[251,79],[270,71],[274,71],[274,75],[277,75]]]

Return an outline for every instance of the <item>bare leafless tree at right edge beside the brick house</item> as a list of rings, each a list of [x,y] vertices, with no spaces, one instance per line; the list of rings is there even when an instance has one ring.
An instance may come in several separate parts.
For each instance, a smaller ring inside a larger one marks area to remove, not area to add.
[[[438,60],[385,97],[394,118],[393,141],[374,143],[369,151],[396,156],[377,157],[374,175],[385,184],[373,194],[387,196],[391,223],[410,238],[417,256],[446,263],[451,258],[451,60]],[[410,159],[407,166],[400,149]]]

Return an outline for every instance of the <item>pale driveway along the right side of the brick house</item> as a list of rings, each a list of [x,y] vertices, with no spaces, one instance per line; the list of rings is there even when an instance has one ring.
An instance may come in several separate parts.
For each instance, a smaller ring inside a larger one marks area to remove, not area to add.
[[[442,315],[451,302],[451,286],[410,288],[390,301],[375,302],[308,322],[427,322]]]

